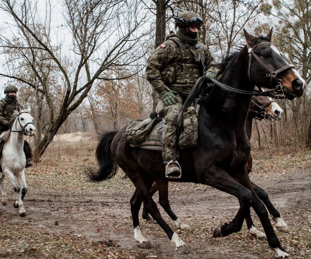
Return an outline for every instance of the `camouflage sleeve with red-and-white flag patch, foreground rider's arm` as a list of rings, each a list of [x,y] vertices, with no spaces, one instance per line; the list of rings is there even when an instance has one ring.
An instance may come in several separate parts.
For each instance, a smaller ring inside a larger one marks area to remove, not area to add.
[[[146,78],[153,88],[161,93],[167,86],[161,77],[165,66],[179,55],[179,48],[172,40],[165,41],[151,54],[147,60]]]

